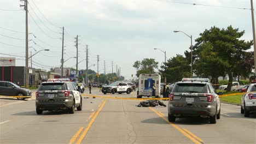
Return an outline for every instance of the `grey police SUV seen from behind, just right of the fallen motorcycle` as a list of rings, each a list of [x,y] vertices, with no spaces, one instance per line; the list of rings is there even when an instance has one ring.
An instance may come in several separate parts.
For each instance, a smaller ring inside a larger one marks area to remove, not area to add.
[[[169,94],[168,121],[176,117],[210,118],[210,123],[220,119],[219,95],[207,78],[183,78]]]

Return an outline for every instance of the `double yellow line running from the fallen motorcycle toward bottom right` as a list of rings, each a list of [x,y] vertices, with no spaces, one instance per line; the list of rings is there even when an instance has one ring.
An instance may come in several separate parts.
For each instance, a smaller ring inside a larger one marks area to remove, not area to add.
[[[196,135],[194,135],[193,133],[191,133],[190,131],[188,131],[187,129],[182,129],[179,128],[177,125],[171,123],[168,121],[168,119],[165,118],[164,113],[162,112],[158,112],[155,109],[153,109],[152,107],[149,107],[150,110],[154,111],[156,114],[158,114],[162,119],[164,119],[167,123],[171,124],[173,128],[177,129],[179,132],[181,132],[184,136],[188,137],[189,140],[193,141],[196,144],[202,144],[203,141],[197,137]]]

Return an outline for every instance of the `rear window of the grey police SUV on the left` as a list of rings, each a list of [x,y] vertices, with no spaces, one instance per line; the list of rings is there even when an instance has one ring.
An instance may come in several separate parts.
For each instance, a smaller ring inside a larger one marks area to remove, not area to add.
[[[66,90],[65,83],[42,83],[38,91]]]

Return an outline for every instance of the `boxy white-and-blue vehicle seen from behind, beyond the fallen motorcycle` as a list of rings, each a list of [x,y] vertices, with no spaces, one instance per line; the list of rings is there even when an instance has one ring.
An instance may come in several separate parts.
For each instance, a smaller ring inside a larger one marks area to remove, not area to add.
[[[152,97],[153,83],[155,83],[155,97],[160,97],[161,75],[159,74],[140,74],[138,81],[137,98]]]

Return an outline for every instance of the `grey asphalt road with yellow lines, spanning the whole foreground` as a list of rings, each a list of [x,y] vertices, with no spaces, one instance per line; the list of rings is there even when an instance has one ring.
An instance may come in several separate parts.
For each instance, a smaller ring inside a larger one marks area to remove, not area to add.
[[[0,99],[0,143],[256,143],[256,116],[243,117],[240,106],[222,104],[217,124],[203,118],[169,123],[167,107],[137,107],[139,100],[115,97],[136,98],[136,92],[104,95],[93,89],[74,114],[37,115],[33,97]]]

